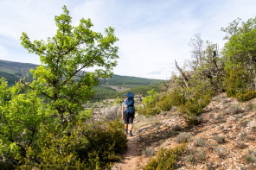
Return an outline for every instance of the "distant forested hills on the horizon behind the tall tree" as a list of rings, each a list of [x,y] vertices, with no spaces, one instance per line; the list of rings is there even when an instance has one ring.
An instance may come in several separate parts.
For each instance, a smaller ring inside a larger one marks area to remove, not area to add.
[[[32,75],[29,70],[35,69],[36,66],[39,65],[0,60],[0,79],[4,77],[9,85],[14,85],[16,81],[25,76],[30,80]],[[151,87],[157,90],[157,86],[162,83],[161,79],[113,75],[112,79],[100,79],[100,85],[94,88],[95,99],[116,98],[131,88],[136,93],[145,94],[145,91]]]

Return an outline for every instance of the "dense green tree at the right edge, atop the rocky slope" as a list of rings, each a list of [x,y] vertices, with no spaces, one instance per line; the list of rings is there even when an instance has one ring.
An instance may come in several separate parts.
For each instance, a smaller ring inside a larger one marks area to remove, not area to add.
[[[227,96],[238,98],[239,101],[254,98],[254,92],[251,90],[256,90],[255,26],[255,18],[246,22],[241,22],[238,18],[227,28],[222,28],[222,31],[227,33],[228,40],[223,49]]]

